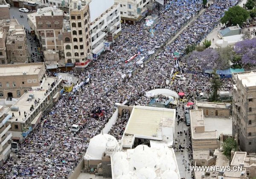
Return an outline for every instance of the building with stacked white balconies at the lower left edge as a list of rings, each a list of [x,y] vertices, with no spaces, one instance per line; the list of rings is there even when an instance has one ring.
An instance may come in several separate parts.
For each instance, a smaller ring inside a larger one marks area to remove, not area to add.
[[[12,115],[5,115],[7,110],[8,107],[0,106],[0,167],[3,166],[11,151],[10,139],[12,138],[12,133],[8,132],[11,125],[6,124],[6,121]]]

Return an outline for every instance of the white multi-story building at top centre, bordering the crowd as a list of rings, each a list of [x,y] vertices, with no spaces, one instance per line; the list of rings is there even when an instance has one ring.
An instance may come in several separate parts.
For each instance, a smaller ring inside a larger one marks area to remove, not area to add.
[[[134,24],[151,8],[154,0],[115,0],[120,4],[120,14],[123,23]]]

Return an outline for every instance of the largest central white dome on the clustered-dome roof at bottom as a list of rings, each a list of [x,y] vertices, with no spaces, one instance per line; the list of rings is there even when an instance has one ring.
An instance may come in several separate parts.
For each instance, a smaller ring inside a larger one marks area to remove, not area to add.
[[[137,171],[143,167],[154,168],[157,165],[157,157],[155,153],[149,150],[148,146],[138,145],[131,156],[130,164]]]

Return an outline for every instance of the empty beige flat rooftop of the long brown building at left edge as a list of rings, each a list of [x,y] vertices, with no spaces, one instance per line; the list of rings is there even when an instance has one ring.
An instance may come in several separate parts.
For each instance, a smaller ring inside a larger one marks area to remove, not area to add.
[[[8,64],[0,65],[0,77],[23,75],[36,75],[44,63],[23,63],[23,64]]]

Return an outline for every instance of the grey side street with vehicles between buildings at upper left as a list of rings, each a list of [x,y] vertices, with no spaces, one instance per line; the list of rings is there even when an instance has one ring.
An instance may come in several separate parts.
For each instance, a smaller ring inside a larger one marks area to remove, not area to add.
[[[29,12],[29,13],[31,13],[31,12]],[[10,17],[11,18],[14,17],[15,19],[17,19],[18,23],[20,25],[23,25],[25,30],[27,29],[30,32],[31,28],[27,21],[27,18],[28,18],[27,14],[29,14],[29,13],[20,12],[19,8],[15,8],[15,7],[11,7],[11,9],[10,9]],[[20,14],[22,14],[23,17],[20,17]],[[27,34],[26,37],[27,37],[27,48],[28,48],[29,54],[32,54],[32,53],[36,54],[37,51],[35,51],[35,47],[36,47],[36,45],[39,45],[39,44],[33,40],[33,37],[31,35]],[[30,38],[30,40],[29,40],[29,38]],[[31,56],[29,59],[31,60]],[[40,60],[38,60],[38,59],[39,59],[39,55],[37,54],[37,56],[35,56],[34,62],[40,62]]]

